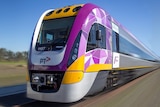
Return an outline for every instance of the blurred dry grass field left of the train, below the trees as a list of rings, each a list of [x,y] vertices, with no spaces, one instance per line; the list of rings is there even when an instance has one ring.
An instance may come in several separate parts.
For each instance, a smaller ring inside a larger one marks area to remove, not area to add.
[[[26,62],[0,62],[0,87],[26,83]]]

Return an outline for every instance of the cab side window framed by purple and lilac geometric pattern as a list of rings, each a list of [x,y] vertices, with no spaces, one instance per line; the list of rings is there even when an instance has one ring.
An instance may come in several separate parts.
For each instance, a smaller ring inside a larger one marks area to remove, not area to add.
[[[96,40],[96,31],[101,31],[101,40]],[[104,48],[106,49],[106,28],[100,24],[93,24],[91,30],[89,32],[89,37],[87,41],[87,50],[93,50],[96,48]]]

